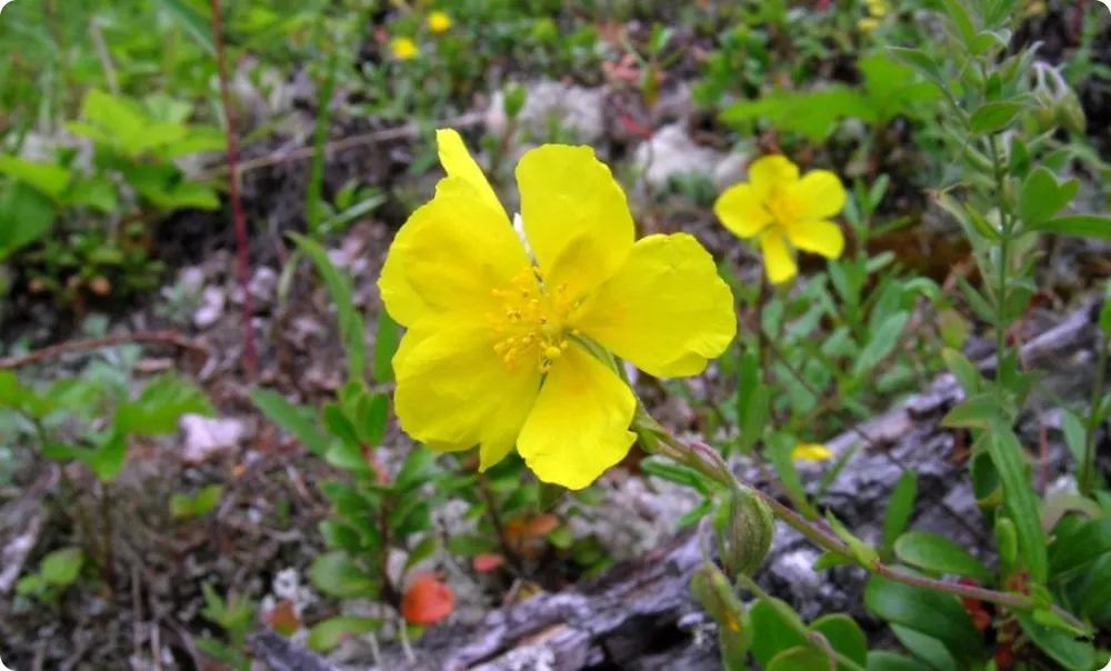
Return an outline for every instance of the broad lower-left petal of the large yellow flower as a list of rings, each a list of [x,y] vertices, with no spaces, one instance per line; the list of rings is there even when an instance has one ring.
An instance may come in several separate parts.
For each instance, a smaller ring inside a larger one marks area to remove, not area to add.
[[[394,372],[401,428],[438,450],[481,444],[482,467],[512,449],[540,390],[540,371],[507,368],[486,321],[434,317],[402,338]]]

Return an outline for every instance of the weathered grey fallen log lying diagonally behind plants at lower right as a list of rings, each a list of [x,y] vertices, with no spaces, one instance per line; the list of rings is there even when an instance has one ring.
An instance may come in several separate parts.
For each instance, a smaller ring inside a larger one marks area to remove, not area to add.
[[[1025,365],[1048,373],[1040,391],[1065,399],[1085,398],[1095,361],[1097,310],[1098,306],[1088,304],[1072,312],[1022,348]],[[994,363],[988,359],[980,367],[990,374]],[[1048,435],[1045,469],[1048,475],[1054,477],[1063,470],[1067,451],[1052,413],[1037,410],[1039,404],[1048,407],[1040,398],[1031,403],[1034,410],[1020,421],[1019,432],[1033,451],[1043,432]],[[989,544],[989,535],[980,521],[964,464],[954,459],[964,437],[940,425],[944,413],[962,399],[963,392],[952,375],[941,375],[890,412],[829,441],[827,445],[838,453],[850,449],[857,453],[822,497],[822,505],[858,535],[879,541],[890,491],[905,470],[912,470],[920,492],[913,527],[947,535],[983,554],[981,549]],[[1043,431],[1047,425],[1050,430]],[[738,468],[738,473],[757,487],[768,484],[755,469]],[[809,481],[817,480],[814,473],[807,475]],[[812,567],[819,553],[800,534],[780,524],[758,580],[807,620],[848,612],[865,629],[878,631],[879,623],[870,619],[860,602],[864,571],[848,567],[815,573]],[[493,611],[477,624],[433,630],[417,645],[416,662],[410,662],[402,651],[390,649],[383,651],[381,667],[368,660],[363,665],[348,668],[717,670],[720,662],[712,625],[688,591],[690,577],[701,560],[698,540],[688,532],[574,591],[537,595]]]

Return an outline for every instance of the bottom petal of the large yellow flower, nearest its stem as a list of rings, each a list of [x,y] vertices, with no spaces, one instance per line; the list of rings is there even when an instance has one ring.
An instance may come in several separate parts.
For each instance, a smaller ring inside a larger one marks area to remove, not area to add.
[[[544,380],[517,450],[542,481],[582,489],[629,453],[635,409],[612,370],[571,345]]]

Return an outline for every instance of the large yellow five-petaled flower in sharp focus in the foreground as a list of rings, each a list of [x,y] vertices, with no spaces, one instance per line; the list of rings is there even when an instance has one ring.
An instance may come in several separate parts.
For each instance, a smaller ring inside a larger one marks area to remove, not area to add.
[[[612,352],[664,378],[702,372],[737,332],[733,299],[694,238],[634,242],[625,196],[588,147],[517,166],[522,244],[459,134],[448,177],[398,231],[379,280],[408,328],[393,359],[402,429],[438,450],[513,447],[537,475],[582,489],[633,443],[632,390]]]

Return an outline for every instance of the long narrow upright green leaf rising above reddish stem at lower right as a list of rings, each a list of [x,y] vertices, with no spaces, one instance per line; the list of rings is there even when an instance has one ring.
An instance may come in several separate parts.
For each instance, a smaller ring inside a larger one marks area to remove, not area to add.
[[[988,452],[1003,483],[1004,503],[1019,531],[1019,550],[1035,582],[1049,573],[1045,534],[1038,514],[1038,498],[1027,474],[1025,453],[1009,427],[998,425],[987,437]]]

